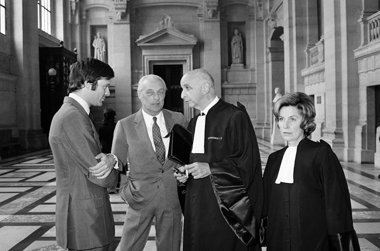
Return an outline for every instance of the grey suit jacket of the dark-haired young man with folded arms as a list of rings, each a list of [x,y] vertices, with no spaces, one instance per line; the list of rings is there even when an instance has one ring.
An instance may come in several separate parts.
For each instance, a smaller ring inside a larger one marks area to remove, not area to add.
[[[90,249],[109,244],[114,222],[107,189],[117,184],[113,170],[103,180],[89,173],[98,163],[100,142],[83,107],[65,97],[54,115],[49,132],[56,173],[56,240],[72,249]]]

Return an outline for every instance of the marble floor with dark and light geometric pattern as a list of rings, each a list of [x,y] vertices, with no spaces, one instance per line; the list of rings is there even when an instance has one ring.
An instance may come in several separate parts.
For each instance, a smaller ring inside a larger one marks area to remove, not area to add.
[[[259,141],[263,169],[268,155],[281,148]],[[350,190],[354,227],[361,250],[380,250],[380,169],[342,162]],[[0,251],[64,250],[56,245],[55,173],[49,150],[3,159],[0,163]],[[110,195],[115,219],[112,249],[119,250],[126,205]],[[145,251],[156,250],[152,226]]]

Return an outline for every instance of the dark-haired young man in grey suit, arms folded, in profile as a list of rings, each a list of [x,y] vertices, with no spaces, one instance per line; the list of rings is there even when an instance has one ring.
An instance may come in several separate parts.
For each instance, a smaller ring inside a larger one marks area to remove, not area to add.
[[[97,59],[75,62],[71,66],[69,97],[51,121],[49,144],[57,185],[56,240],[69,250],[108,250],[114,238],[107,188],[117,184],[117,159],[101,153],[89,116],[90,107],[102,106],[109,96],[113,77],[112,68]]]

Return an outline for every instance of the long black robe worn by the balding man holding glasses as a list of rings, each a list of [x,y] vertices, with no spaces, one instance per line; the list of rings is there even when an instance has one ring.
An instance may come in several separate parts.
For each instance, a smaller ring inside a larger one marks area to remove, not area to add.
[[[209,163],[211,175],[186,182],[183,250],[261,250],[261,161],[247,114],[219,100],[206,116],[205,153],[190,162]]]

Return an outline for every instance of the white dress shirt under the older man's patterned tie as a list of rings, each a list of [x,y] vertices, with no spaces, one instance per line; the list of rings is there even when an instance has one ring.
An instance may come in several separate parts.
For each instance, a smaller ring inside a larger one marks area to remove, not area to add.
[[[149,136],[150,142],[152,143],[152,147],[154,151],[156,151],[156,146],[154,145],[154,141],[153,141],[152,127],[153,127],[153,117],[157,118],[156,122],[157,122],[158,127],[160,127],[162,141],[164,142],[164,145],[165,145],[165,158],[167,158],[167,154],[169,151],[170,138],[169,137],[163,138],[167,135],[167,130],[166,130],[166,125],[165,125],[165,118],[162,111],[157,116],[151,116],[147,114],[146,112],[144,112],[144,109],[142,109],[142,112],[143,112],[145,125],[147,126],[148,136]]]

